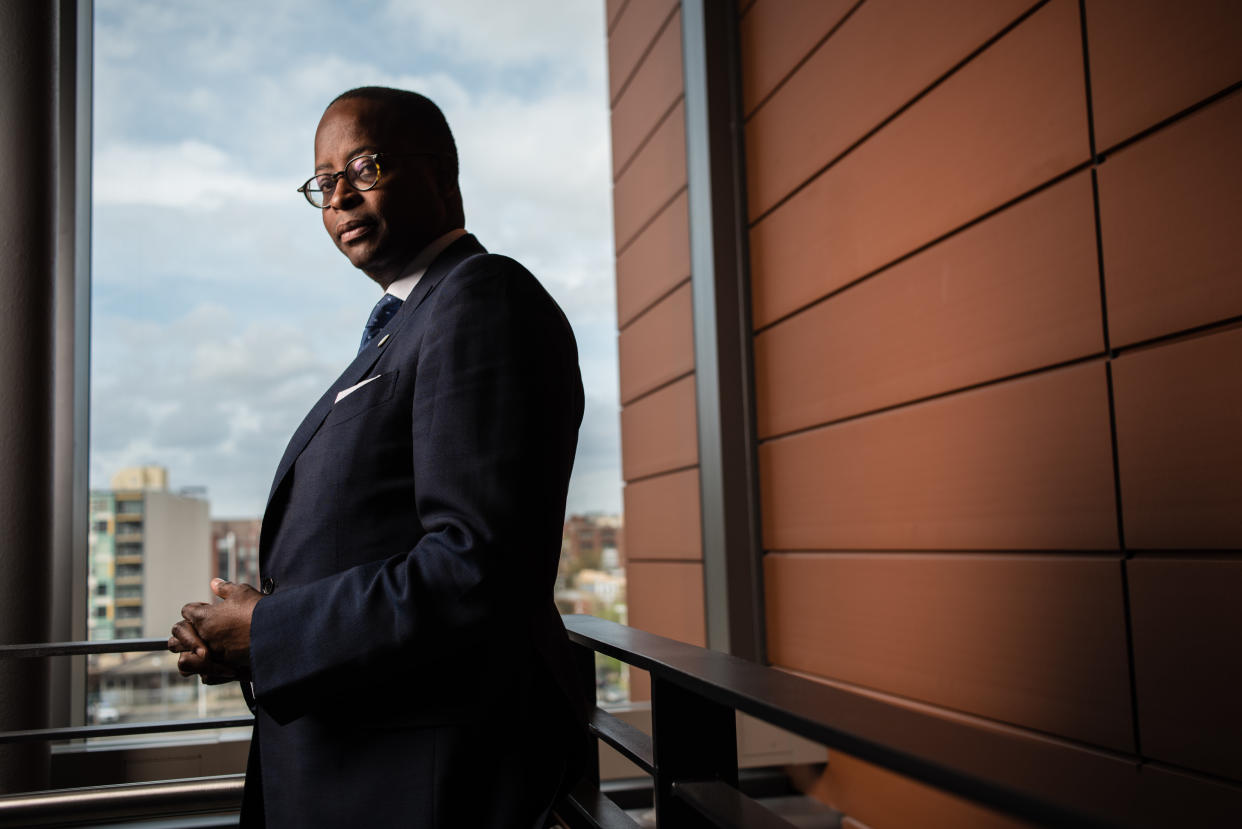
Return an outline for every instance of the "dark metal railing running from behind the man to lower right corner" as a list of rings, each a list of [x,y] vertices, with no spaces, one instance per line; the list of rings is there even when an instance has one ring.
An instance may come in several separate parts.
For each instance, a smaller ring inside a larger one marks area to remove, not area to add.
[[[651,674],[650,737],[599,708],[590,728],[652,776],[661,827],[794,825],[738,790],[735,711],[1035,824],[1242,825],[1237,787],[894,705],[594,616],[564,620],[592,691],[596,653]],[[637,827],[599,783],[595,766],[558,814],[574,829]]]

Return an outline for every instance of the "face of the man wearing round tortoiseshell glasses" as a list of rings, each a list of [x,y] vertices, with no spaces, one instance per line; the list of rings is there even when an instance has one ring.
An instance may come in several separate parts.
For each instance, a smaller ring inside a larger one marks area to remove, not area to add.
[[[359,193],[337,180],[323,213],[323,226],[340,252],[388,287],[419,251],[452,230],[436,179],[436,159],[416,153],[409,135],[385,118],[383,104],[360,98],[338,101],[323,114],[314,135],[315,173],[337,173],[369,153],[379,159],[380,181]]]

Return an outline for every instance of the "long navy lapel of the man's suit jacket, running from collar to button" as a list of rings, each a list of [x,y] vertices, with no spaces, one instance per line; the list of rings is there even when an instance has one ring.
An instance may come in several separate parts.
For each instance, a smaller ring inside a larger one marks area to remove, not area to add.
[[[293,466],[293,461],[297,460],[302,450],[306,449],[314,434],[319,431],[319,426],[323,424],[328,413],[332,411],[332,406],[337,400],[337,394],[348,389],[356,383],[360,383],[366,378],[366,373],[371,370],[375,363],[379,360],[380,354],[384,348],[391,346],[391,341],[401,336],[401,329],[409,322],[419,306],[431,295],[437,285],[453,270],[457,268],[467,259],[477,256],[479,254],[486,254],[487,251],[478,240],[471,234],[466,234],[461,239],[456,240],[452,245],[446,247],[440,256],[427,267],[427,272],[422,275],[419,283],[414,286],[414,291],[406,297],[405,302],[392,316],[384,328],[379,331],[375,339],[354,358],[354,360],[342,372],[337,382],[333,383],[322,398],[310,408],[307,416],[302,420],[302,425],[297,428],[293,436],[289,439],[289,445],[284,449],[284,455],[281,457],[281,462],[276,466],[276,477],[272,480],[272,488],[267,495],[267,503],[271,506],[272,498],[276,497],[276,491],[279,490],[281,482],[288,474],[289,467]],[[412,329],[411,329],[412,331]],[[386,342],[385,342],[386,341]],[[384,342],[381,347],[379,343]]]

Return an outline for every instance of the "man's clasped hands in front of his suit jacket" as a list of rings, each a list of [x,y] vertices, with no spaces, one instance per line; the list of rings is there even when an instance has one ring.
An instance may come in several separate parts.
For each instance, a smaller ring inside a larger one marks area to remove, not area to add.
[[[250,674],[250,618],[263,594],[248,584],[211,579],[215,604],[191,602],[173,625],[168,649],[180,654],[181,676],[197,674],[204,685],[220,685]]]

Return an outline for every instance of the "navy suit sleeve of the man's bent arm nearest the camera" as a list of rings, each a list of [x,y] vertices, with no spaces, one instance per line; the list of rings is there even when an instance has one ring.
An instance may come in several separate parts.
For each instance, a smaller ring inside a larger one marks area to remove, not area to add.
[[[576,347],[534,277],[481,260],[436,287],[417,352],[411,506],[426,533],[255,609],[256,698],[278,722],[550,602],[582,410]]]

